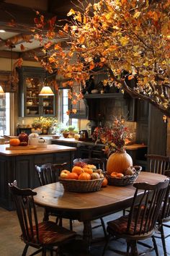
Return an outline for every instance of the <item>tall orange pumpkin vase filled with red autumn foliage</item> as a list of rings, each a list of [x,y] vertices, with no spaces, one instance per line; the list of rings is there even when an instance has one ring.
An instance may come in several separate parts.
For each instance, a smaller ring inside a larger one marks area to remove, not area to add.
[[[96,142],[105,145],[105,153],[109,156],[107,160],[107,174],[124,172],[128,167],[133,166],[131,156],[125,151],[125,144],[130,140],[132,134],[125,125],[125,119],[115,118],[112,127],[97,127],[92,137]]]

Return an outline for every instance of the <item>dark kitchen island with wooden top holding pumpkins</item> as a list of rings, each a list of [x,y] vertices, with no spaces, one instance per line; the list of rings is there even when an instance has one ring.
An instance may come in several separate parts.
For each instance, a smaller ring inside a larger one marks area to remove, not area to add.
[[[27,147],[27,146],[26,146]],[[48,145],[47,148],[6,150],[9,145],[0,145],[0,207],[14,208],[8,183],[17,180],[18,187],[35,188],[40,183],[35,165],[67,162],[71,169],[76,148],[63,145]]]

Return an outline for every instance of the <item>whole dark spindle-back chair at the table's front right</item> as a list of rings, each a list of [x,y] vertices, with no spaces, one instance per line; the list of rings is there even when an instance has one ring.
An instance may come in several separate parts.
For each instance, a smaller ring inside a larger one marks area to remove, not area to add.
[[[138,255],[137,242],[152,237],[154,249],[156,255],[158,255],[153,233],[168,185],[169,179],[166,179],[165,182],[159,182],[158,184],[148,184],[145,182],[133,184],[136,189],[130,213],[127,216],[122,216],[107,223],[109,237],[104,246],[103,255],[111,236],[126,239],[127,252],[125,252],[125,255]],[[138,198],[140,192],[143,193],[140,195],[140,198]],[[130,249],[131,252],[129,252]],[[120,253],[119,251],[114,251]],[[122,252],[120,254],[122,254]]]

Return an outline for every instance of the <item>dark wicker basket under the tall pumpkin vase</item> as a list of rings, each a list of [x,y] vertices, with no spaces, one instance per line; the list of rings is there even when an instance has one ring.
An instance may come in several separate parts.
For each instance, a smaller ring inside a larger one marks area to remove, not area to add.
[[[112,186],[118,186],[118,187],[128,186],[130,184],[133,184],[133,182],[135,182],[135,179],[137,179],[138,174],[142,170],[142,166],[133,166],[133,168],[135,168],[133,175],[125,175],[121,178],[112,177],[112,176],[106,174],[106,177],[108,179],[108,184],[112,185]]]

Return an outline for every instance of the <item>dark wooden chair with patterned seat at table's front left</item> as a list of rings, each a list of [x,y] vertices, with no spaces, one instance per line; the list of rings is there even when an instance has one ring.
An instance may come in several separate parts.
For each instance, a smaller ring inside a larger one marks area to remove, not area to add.
[[[61,245],[72,241],[76,236],[76,232],[58,226],[53,221],[39,223],[34,202],[34,196],[37,193],[33,192],[32,189],[19,189],[16,186],[16,182],[14,182],[9,184],[9,190],[12,193],[22,230],[21,239],[25,243],[22,256],[27,254],[29,246],[37,249],[30,256],[37,255],[39,252],[42,252],[42,255],[45,256],[47,250],[50,250],[50,255],[52,256],[53,247],[58,247],[55,253],[59,255]]]

